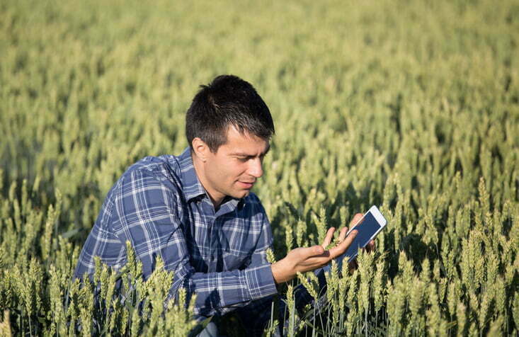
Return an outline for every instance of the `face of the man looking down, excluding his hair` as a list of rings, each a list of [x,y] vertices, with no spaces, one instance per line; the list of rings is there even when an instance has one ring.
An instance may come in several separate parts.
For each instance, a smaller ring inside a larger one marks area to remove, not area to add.
[[[207,154],[204,165],[207,192],[215,200],[222,200],[226,195],[233,198],[249,195],[256,180],[263,176],[263,156],[269,148],[268,140],[241,135],[229,127],[227,142],[216,153]]]

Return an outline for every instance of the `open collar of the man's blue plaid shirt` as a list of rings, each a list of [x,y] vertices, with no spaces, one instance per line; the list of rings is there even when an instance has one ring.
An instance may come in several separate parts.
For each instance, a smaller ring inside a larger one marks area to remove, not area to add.
[[[205,188],[203,187],[202,183],[200,183],[200,180],[196,175],[195,166],[193,166],[193,158],[191,157],[191,149],[189,147],[184,149],[182,154],[178,156],[178,162],[181,166],[183,193],[184,197],[186,197],[186,201],[190,201],[193,198],[199,197],[200,195],[205,196]],[[226,197],[226,200],[224,200],[222,205],[220,205],[220,210],[224,208],[225,211],[230,212],[236,207],[241,209],[243,204],[243,198],[236,199]]]

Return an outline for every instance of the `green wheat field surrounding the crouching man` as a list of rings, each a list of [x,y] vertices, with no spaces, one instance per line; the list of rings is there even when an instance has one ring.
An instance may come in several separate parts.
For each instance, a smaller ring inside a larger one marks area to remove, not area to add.
[[[0,1],[0,335],[185,333],[69,277],[118,176],[179,154],[198,86],[236,74],[275,120],[275,256],[389,220],[333,318],[285,333],[517,336],[518,43],[508,0]]]

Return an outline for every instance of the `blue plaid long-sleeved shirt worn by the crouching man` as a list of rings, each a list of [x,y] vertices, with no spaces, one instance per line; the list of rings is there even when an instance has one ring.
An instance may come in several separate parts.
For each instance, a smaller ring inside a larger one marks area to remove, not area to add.
[[[174,273],[170,297],[185,287],[188,296],[197,295],[195,314],[221,315],[277,293],[266,260],[272,240],[266,212],[253,193],[226,198],[215,212],[186,149],[180,156],[147,156],[122,174],[108,192],[74,275],[93,274],[94,256],[121,268],[130,241],[144,279],[161,256]]]

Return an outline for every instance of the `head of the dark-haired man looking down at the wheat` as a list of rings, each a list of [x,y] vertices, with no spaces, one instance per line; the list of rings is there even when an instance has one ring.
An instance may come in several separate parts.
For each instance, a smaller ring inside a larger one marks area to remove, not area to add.
[[[218,76],[193,98],[186,136],[193,164],[210,198],[244,198],[263,175],[274,134],[270,111],[256,90],[236,76]]]

